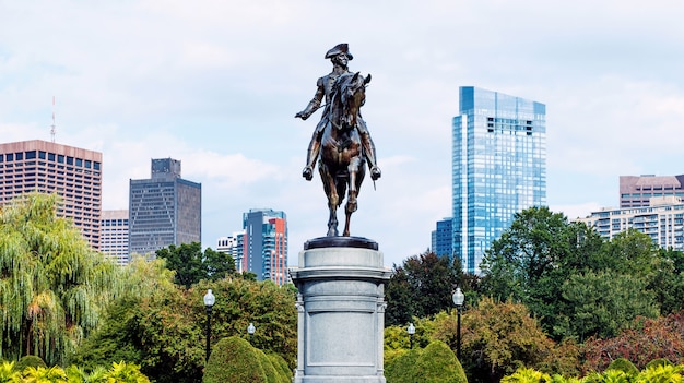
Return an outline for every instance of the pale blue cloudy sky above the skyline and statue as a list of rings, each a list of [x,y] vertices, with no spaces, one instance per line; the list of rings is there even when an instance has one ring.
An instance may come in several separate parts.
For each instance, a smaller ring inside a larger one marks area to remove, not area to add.
[[[0,0],[0,142],[103,153],[103,208],[128,208],[152,158],[202,184],[202,246],[250,208],[284,211],[291,265],[327,231],[302,178],[320,111],[295,119],[347,43],[382,177],[353,236],[385,264],[451,216],[460,86],[546,105],[547,203],[618,205],[618,177],[684,173],[684,4],[634,0]],[[55,105],[52,105],[55,97]],[[342,214],[340,214],[343,220]]]

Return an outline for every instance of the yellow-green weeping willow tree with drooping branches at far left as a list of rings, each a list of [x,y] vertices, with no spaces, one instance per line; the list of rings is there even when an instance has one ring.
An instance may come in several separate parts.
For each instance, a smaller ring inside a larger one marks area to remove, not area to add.
[[[117,266],[56,216],[58,203],[28,193],[0,208],[0,359],[61,363],[119,288]]]

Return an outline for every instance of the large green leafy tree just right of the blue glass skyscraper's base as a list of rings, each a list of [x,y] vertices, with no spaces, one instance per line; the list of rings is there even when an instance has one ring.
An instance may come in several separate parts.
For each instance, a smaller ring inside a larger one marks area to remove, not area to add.
[[[649,286],[659,262],[649,236],[628,230],[603,241],[585,224],[532,207],[486,252],[483,291],[526,304],[556,340],[610,336],[636,315],[657,315]]]

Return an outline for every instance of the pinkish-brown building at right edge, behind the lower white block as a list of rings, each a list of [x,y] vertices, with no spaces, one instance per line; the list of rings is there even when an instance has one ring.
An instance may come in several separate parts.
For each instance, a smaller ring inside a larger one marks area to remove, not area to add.
[[[659,196],[684,198],[684,175],[680,176],[620,176],[620,207],[650,206]]]

